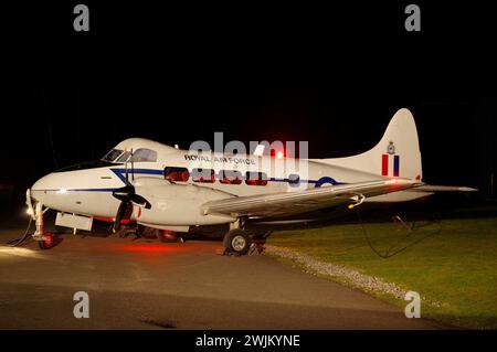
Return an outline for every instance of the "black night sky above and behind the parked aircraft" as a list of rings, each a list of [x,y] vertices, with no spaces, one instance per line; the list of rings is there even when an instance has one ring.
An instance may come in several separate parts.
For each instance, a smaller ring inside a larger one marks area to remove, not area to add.
[[[489,9],[420,2],[422,31],[408,33],[402,2],[86,3],[88,33],[73,31],[71,3],[2,9],[2,183],[22,189],[128,137],[187,148],[223,131],[355,154],[408,107],[424,181],[491,193]]]

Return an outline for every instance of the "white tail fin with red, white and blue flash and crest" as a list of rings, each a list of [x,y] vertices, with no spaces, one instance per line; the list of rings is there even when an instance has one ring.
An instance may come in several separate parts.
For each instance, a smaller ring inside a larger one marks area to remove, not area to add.
[[[402,108],[393,115],[374,148],[358,156],[322,161],[383,177],[421,181],[421,152],[414,117],[409,109]]]

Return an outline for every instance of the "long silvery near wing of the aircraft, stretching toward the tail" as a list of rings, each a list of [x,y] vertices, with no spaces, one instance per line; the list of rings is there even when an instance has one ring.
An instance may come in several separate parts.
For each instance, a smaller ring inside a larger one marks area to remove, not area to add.
[[[202,212],[205,215],[231,216],[292,215],[339,204],[355,204],[368,196],[398,192],[421,184],[406,179],[384,179],[305,191],[237,196],[207,202],[202,205]]]

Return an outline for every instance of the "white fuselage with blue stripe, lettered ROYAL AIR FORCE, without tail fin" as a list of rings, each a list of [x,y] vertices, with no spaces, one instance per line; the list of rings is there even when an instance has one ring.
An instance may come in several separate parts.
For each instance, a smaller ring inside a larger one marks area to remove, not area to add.
[[[290,158],[273,158],[268,156],[226,156],[218,152],[193,153],[189,150],[179,150],[146,139],[133,138],[123,141],[116,150],[151,149],[157,152],[156,161],[137,161],[133,164],[135,183],[150,183],[159,181],[160,186],[169,186],[165,174],[167,168],[184,168],[190,173],[187,180],[177,180],[175,185],[191,189],[192,192],[204,188],[212,193],[210,198],[243,196],[263,193],[293,192],[303,189],[327,186],[340,183],[355,183],[381,179],[380,175],[361,172],[339,166],[331,166],[314,160],[299,160]],[[82,169],[62,169],[40,179],[31,189],[32,196],[45,206],[56,211],[75,213],[88,216],[112,218],[117,212],[119,201],[112,192],[126,184],[126,172],[131,175],[130,162],[109,162],[105,166],[82,164]],[[191,175],[193,169],[213,170],[213,182],[199,182]],[[239,183],[222,183],[223,171],[235,171],[242,177]],[[262,184],[247,182],[247,172],[262,172]],[[294,177],[292,179],[292,175]],[[297,177],[298,175],[298,179]],[[205,191],[207,191],[205,190]],[[198,191],[197,191],[198,192]],[[218,195],[218,196],[215,196]],[[199,198],[199,195],[195,195]],[[161,199],[156,207],[171,209],[181,204],[181,200],[171,198]],[[184,207],[181,211],[187,211]],[[169,217],[169,216],[168,216]],[[231,218],[214,221],[197,220],[189,225],[205,223],[231,222]],[[184,222],[181,222],[184,224]],[[173,225],[173,224],[171,224]],[[175,224],[177,225],[177,224]],[[187,225],[187,224],[184,224]]]

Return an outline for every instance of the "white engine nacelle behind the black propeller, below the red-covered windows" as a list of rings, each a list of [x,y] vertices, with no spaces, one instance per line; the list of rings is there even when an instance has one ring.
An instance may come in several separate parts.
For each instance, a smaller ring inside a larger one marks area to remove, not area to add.
[[[231,216],[203,215],[201,205],[209,201],[232,198],[232,194],[195,184],[169,183],[151,178],[135,182],[136,193],[150,202],[151,207],[135,206],[135,217],[148,225],[194,226],[231,223]]]

